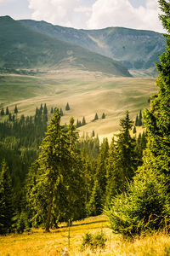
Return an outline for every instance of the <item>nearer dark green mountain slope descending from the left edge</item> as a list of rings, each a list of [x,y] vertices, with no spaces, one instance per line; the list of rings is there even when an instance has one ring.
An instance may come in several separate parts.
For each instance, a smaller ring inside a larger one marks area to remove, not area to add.
[[[1,69],[61,69],[73,67],[114,76],[131,76],[117,61],[75,44],[36,32],[13,20],[0,17]]]

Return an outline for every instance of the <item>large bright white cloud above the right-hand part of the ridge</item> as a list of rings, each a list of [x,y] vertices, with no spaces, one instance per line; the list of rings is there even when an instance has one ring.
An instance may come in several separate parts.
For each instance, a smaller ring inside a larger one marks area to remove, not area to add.
[[[125,26],[162,31],[156,0],[146,0],[145,7],[134,8],[128,0],[97,0],[88,20],[89,28]]]

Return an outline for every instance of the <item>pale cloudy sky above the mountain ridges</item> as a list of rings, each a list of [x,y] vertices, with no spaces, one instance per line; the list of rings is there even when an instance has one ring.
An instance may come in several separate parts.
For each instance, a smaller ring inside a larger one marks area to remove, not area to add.
[[[163,32],[157,0],[0,0],[0,16],[45,20],[59,26],[123,26]]]

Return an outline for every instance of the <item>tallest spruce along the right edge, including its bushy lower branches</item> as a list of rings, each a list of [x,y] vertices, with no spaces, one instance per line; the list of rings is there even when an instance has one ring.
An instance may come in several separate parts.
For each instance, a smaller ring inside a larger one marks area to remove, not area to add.
[[[127,236],[145,230],[160,230],[170,224],[170,3],[159,0],[162,25],[167,30],[166,51],[156,64],[159,88],[150,100],[150,110],[144,111],[147,148],[144,164],[127,189],[112,201],[107,214],[111,227]]]

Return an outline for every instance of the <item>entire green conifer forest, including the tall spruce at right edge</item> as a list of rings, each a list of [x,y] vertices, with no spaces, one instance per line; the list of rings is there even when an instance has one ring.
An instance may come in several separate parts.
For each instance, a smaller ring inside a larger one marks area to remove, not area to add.
[[[167,48],[157,63],[158,92],[136,120],[128,111],[111,143],[79,137],[73,117],[44,103],[34,116],[1,110],[0,234],[45,231],[105,213],[124,236],[170,224],[170,3],[159,0]],[[66,111],[70,110],[67,103]],[[6,119],[4,119],[6,116]],[[99,119],[98,114],[94,120]],[[105,113],[102,115],[105,119]],[[86,125],[83,117],[82,125]],[[136,136],[134,127],[144,125]],[[77,127],[76,127],[77,126]]]

